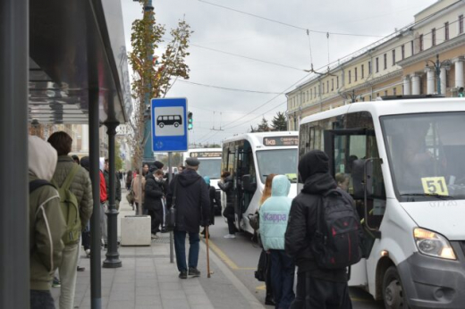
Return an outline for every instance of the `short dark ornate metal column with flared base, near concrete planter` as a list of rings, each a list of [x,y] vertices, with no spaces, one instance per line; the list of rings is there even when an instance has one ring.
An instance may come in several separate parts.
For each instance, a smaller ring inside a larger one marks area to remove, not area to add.
[[[109,188],[110,198],[108,205],[108,211],[106,216],[108,217],[108,249],[106,250],[106,260],[104,261],[104,268],[118,268],[122,266],[120,260],[120,254],[118,253],[118,210],[116,209],[115,197],[115,174],[114,174],[114,136],[116,135],[116,127],[119,122],[106,122],[106,134],[108,134],[108,158],[110,164],[109,171]],[[118,180],[119,181],[119,180]]]

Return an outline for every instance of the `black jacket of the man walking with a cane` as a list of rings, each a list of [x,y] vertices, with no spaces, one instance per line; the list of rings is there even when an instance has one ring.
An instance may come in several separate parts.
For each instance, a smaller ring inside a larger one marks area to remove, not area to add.
[[[187,169],[174,176],[166,196],[166,204],[171,208],[174,186],[176,186],[176,226],[174,230],[199,233],[199,226],[209,225],[210,197],[205,181],[197,173]],[[203,219],[205,218],[205,219]]]

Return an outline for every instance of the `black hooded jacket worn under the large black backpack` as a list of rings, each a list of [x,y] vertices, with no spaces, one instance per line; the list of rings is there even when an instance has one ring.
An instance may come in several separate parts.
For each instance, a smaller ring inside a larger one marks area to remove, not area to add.
[[[346,282],[345,269],[329,271],[318,268],[310,249],[311,239],[317,230],[317,207],[323,205],[323,195],[328,190],[337,188],[329,174],[328,163],[328,156],[320,150],[312,150],[300,159],[299,173],[304,186],[292,200],[285,251],[295,259],[299,272],[309,271],[315,278]]]

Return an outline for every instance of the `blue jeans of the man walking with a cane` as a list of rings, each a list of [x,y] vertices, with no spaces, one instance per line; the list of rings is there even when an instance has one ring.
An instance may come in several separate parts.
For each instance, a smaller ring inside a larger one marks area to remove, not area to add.
[[[178,271],[187,271],[186,264],[186,234],[185,230],[174,230],[174,251],[176,251],[176,263]],[[189,267],[197,268],[199,263],[199,233],[189,233]]]

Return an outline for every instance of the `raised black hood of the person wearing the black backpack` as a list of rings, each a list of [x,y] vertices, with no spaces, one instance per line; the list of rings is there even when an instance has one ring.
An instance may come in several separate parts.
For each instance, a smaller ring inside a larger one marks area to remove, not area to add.
[[[304,182],[304,193],[322,194],[337,188],[335,180],[329,174],[329,158],[321,150],[311,150],[302,156],[299,173]]]

